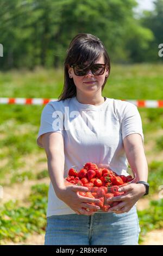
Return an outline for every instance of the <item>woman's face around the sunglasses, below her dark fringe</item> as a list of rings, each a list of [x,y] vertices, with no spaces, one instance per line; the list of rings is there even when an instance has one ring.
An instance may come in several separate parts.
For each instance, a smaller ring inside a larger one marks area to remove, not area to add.
[[[96,60],[95,64],[105,64],[104,57],[101,56],[98,60]],[[86,63],[84,63],[86,65]],[[105,77],[109,75],[108,68],[105,68],[103,75],[93,75],[92,71],[89,72],[85,76],[76,76],[74,74],[73,68],[68,69],[68,74],[70,78],[73,79],[74,84],[77,87],[77,93],[82,92],[86,94],[96,93],[103,86],[105,81]]]

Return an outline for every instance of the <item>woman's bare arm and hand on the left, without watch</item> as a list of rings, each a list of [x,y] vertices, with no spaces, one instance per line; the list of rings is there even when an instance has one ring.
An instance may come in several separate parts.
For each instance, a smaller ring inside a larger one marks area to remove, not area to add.
[[[82,186],[66,186],[64,179],[64,139],[61,133],[48,132],[41,136],[43,148],[46,151],[48,172],[52,185],[57,197],[67,204],[77,214],[92,215],[93,212],[88,212],[83,208],[89,208],[92,211],[99,209],[91,203],[99,202],[98,199],[92,199],[80,196],[77,192],[88,191],[87,187]]]

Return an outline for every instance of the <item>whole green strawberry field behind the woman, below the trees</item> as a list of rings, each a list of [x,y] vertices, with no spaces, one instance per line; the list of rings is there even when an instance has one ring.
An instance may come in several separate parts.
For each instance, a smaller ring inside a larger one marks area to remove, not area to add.
[[[0,72],[1,97],[55,98],[63,84],[61,69]],[[163,99],[163,65],[112,65],[103,96]],[[41,244],[48,192],[46,154],[36,145],[43,106],[0,105],[0,244]],[[141,244],[163,244],[163,108],[139,108],[149,166],[149,196],[139,200]]]

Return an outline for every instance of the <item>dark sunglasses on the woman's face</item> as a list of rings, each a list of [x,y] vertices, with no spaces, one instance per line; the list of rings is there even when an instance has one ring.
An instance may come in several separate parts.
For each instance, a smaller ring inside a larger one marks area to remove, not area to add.
[[[104,74],[106,65],[108,64],[93,64],[90,66],[82,66],[82,65],[71,65],[73,68],[74,74],[76,76],[85,76],[89,70],[92,71],[92,74],[95,76],[100,76]]]

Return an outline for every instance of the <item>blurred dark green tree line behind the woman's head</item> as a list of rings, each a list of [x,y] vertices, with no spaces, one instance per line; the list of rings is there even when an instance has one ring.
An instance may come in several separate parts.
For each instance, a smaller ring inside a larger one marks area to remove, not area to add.
[[[112,62],[162,62],[163,0],[136,15],[135,0],[0,0],[0,69],[59,68],[74,35],[98,36]]]

